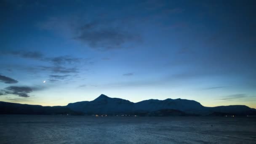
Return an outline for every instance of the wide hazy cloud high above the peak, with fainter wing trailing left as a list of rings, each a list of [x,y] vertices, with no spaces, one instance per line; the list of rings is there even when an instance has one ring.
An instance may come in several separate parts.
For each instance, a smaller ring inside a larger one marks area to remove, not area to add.
[[[79,40],[96,50],[119,49],[124,48],[125,44],[131,45],[141,41],[141,35],[132,32],[133,27],[130,24],[124,25],[125,18],[95,18],[92,20],[86,16],[81,17],[80,13],[49,17],[48,20],[40,22],[39,27],[59,33],[70,33],[72,39]]]

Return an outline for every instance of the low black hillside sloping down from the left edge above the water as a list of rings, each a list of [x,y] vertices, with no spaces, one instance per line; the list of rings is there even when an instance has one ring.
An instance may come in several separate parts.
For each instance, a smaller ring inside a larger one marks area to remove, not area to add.
[[[43,107],[40,105],[16,104],[0,101],[0,114],[24,114],[24,115],[83,115],[68,107],[54,106]]]

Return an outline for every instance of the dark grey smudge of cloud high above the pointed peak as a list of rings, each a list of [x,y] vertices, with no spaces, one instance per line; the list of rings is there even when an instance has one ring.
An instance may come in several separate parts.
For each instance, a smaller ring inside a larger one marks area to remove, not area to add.
[[[75,33],[77,33],[76,40],[81,40],[91,48],[99,50],[123,48],[123,44],[127,42],[139,42],[141,40],[141,36],[138,34],[104,22],[84,24],[82,27],[76,28]]]

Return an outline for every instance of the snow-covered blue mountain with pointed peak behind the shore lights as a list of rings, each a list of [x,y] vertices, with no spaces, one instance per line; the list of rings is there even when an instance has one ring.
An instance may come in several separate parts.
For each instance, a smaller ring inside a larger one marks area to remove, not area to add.
[[[110,115],[150,115],[150,113],[152,114],[154,112],[155,114],[153,115],[156,115],[157,113],[159,114],[159,112],[161,115],[165,115],[166,112],[168,113],[174,111],[176,111],[176,113],[180,113],[180,115],[211,115],[214,113],[225,115],[256,115],[256,109],[252,109],[243,105],[204,107],[197,101],[187,99],[149,99],[133,103],[124,99],[110,98],[104,94],[101,94],[93,101],[80,101],[76,103],[70,103],[67,105],[67,107],[74,111],[84,112],[87,114]],[[164,109],[165,111],[163,111]]]

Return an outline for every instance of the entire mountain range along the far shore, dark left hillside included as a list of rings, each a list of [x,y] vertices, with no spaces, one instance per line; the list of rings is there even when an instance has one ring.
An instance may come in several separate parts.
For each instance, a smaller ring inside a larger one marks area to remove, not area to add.
[[[204,107],[197,101],[187,99],[149,99],[133,103],[101,94],[93,101],[69,103],[67,106],[43,107],[0,101],[0,114],[44,115],[256,115],[256,109],[245,105]]]

